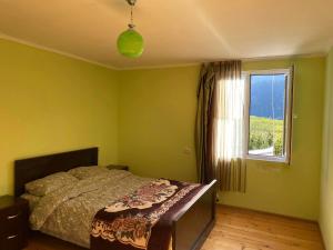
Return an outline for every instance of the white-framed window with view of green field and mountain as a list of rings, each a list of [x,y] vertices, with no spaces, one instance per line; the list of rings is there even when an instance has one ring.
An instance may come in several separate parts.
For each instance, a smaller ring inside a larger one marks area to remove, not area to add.
[[[291,70],[244,72],[246,156],[289,162],[291,147]]]

